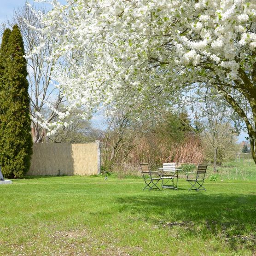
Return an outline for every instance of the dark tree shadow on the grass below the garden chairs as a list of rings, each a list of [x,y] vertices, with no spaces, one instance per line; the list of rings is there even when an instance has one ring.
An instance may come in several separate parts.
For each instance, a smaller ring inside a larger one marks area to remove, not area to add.
[[[180,228],[185,236],[223,239],[234,250],[256,250],[256,195],[204,192],[123,197],[125,211],[160,228]]]

